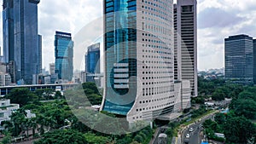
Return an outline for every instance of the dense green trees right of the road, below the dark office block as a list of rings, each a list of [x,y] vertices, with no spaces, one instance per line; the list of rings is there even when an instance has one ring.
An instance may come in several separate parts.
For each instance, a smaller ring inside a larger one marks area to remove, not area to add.
[[[203,104],[209,98],[213,101],[232,99],[230,112],[218,113],[214,120],[209,119],[203,124],[209,139],[230,144],[256,142],[256,125],[252,123],[256,118],[256,87],[199,78],[199,89],[200,96],[193,103]],[[223,133],[225,139],[214,133]]]

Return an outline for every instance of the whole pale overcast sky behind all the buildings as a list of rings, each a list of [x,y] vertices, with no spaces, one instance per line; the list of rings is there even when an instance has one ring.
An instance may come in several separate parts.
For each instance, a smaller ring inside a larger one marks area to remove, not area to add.
[[[198,0],[197,9],[199,70],[224,67],[225,37],[241,33],[256,37],[255,0]],[[97,20],[101,16],[102,0],[41,0],[38,4],[38,28],[39,34],[43,35],[44,67],[48,69],[49,63],[55,61],[55,31],[71,32],[79,38],[86,33],[79,50],[74,49],[74,55],[82,56],[86,46],[101,35],[98,31],[102,20]],[[0,18],[2,33],[2,14]],[[79,59],[83,59],[81,56]],[[79,69],[83,62],[75,60],[75,68]]]

